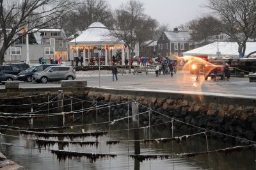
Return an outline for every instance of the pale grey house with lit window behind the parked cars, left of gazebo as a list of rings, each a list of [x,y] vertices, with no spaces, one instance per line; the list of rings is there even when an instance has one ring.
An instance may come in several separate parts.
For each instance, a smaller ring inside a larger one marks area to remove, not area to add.
[[[18,40],[4,55],[5,63],[26,63],[26,35],[17,33],[15,37],[18,36]],[[63,63],[69,60],[67,37],[63,29],[33,29],[28,37],[30,63],[38,63],[40,57],[45,61],[49,61],[50,58],[54,60],[60,58]]]

